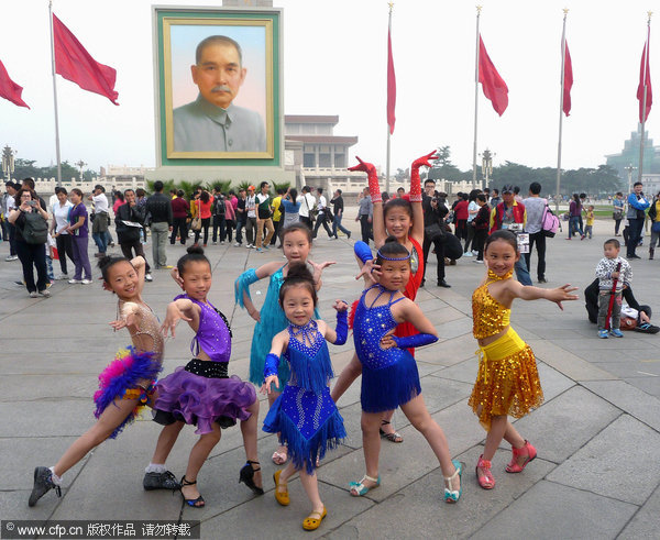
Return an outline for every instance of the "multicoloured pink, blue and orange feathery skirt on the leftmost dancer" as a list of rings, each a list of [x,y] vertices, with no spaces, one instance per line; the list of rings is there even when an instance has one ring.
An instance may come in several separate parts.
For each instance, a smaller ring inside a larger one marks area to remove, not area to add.
[[[119,351],[114,360],[101,372],[99,389],[94,394],[95,417],[99,418],[116,399],[138,399],[135,408],[112,431],[110,439],[116,439],[133,422],[144,406],[153,405],[154,383],[161,368],[161,363],[154,359],[153,353],[128,346]]]

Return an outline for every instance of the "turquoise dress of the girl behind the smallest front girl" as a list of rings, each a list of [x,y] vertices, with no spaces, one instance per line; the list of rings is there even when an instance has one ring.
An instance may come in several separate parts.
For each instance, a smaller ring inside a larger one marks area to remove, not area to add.
[[[266,299],[260,311],[261,320],[254,326],[252,348],[250,350],[250,382],[256,386],[261,386],[264,382],[264,363],[266,355],[271,351],[273,338],[289,323],[284,315],[284,310],[279,306],[279,289],[284,283],[282,271],[287,264],[284,264],[282,268],[271,275]],[[250,296],[250,285],[257,280],[254,272],[254,268],[251,268],[241,274],[237,279],[235,299],[241,307],[244,307],[243,293],[248,293],[248,296]],[[251,274],[254,277],[251,277]],[[321,318],[316,309],[314,310],[314,318]],[[279,378],[280,386],[285,385],[289,379],[289,366],[287,362],[279,363],[277,377]]]

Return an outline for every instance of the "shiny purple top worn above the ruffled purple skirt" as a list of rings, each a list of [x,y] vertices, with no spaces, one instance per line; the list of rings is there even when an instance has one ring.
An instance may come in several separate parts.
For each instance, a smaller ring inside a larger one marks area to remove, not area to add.
[[[231,356],[231,330],[227,318],[218,311],[211,302],[201,302],[188,295],[179,295],[175,298],[185,298],[200,307],[199,327],[193,341],[190,352],[199,354],[201,349],[211,362],[229,362]]]

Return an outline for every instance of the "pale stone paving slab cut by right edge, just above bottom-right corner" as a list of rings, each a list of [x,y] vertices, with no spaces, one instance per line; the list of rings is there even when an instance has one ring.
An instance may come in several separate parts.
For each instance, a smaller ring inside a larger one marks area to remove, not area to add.
[[[642,505],[658,486],[660,433],[623,415],[557,467],[548,480]]]

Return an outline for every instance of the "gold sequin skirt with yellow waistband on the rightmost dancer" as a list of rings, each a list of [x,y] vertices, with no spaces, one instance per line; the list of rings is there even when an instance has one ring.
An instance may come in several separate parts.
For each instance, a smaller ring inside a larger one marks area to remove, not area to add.
[[[521,418],[543,403],[534,352],[513,328],[477,353],[479,374],[468,404],[486,430],[493,416]]]

